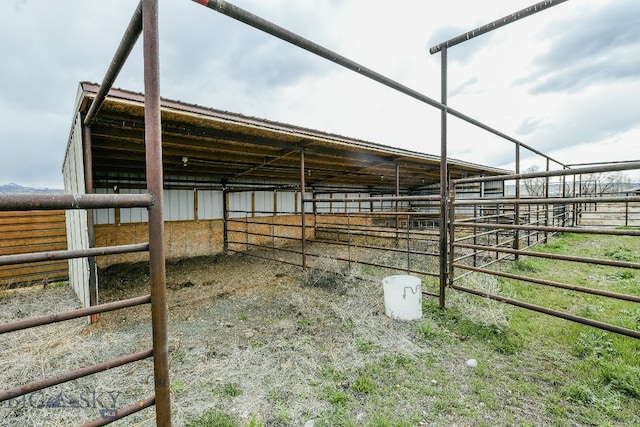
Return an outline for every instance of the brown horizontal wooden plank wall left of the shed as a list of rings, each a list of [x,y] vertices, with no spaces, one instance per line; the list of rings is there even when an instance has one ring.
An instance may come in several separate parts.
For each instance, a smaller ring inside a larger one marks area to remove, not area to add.
[[[67,248],[64,211],[0,212],[0,255]],[[46,261],[0,266],[0,288],[67,279],[69,263]]]

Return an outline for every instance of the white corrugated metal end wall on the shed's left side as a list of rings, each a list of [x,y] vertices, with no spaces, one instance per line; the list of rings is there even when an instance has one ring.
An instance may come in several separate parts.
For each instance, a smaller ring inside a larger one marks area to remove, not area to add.
[[[84,194],[84,162],[82,153],[82,119],[76,114],[62,173],[65,193]],[[71,250],[88,249],[87,213],[84,210],[67,210],[67,247]],[[69,260],[69,283],[84,307],[89,307],[89,261],[87,258]]]

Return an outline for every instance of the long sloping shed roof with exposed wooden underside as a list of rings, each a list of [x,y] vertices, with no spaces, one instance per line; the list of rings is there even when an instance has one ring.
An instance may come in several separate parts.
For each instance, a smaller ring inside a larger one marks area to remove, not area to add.
[[[80,84],[78,112],[88,110],[98,87]],[[91,127],[96,185],[144,174],[143,102],[143,94],[110,91]],[[165,176],[194,182],[297,183],[301,150],[309,187],[395,189],[396,165],[405,192],[439,182],[439,156],[169,99],[162,100],[162,131]],[[449,165],[454,178],[507,172],[458,160]]]

